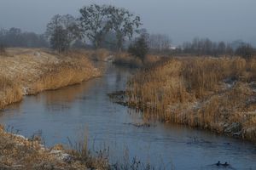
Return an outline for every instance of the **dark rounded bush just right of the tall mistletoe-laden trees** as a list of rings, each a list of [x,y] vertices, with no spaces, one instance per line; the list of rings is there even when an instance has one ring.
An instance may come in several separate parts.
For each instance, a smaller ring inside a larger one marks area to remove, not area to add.
[[[135,42],[131,43],[128,48],[128,53],[142,59],[144,61],[146,54],[148,54],[148,43],[144,35],[138,37]]]

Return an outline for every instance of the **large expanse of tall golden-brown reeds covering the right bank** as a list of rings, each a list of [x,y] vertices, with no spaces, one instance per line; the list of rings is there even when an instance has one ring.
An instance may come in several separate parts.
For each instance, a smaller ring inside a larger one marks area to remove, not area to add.
[[[140,71],[127,94],[145,116],[255,141],[255,69],[255,59],[170,59]]]

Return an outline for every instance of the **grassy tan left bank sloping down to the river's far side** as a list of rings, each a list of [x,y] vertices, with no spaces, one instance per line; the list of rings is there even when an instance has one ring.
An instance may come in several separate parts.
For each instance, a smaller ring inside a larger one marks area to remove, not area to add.
[[[8,48],[0,56],[0,109],[24,95],[62,88],[101,76],[81,52],[55,54],[47,49]]]

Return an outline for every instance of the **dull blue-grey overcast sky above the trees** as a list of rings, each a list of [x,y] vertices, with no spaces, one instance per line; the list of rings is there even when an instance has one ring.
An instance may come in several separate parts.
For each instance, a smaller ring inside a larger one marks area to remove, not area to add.
[[[256,0],[0,0],[0,27],[43,33],[54,14],[77,16],[90,3],[127,8],[175,44],[194,37],[256,42]]]

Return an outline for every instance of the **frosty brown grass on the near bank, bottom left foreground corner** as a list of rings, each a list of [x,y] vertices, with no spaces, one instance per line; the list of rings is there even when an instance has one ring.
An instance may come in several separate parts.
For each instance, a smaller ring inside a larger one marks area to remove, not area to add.
[[[0,169],[108,169],[108,160],[101,155],[90,156],[86,147],[81,152],[84,155],[61,144],[48,149],[39,137],[26,139],[0,129]]]

